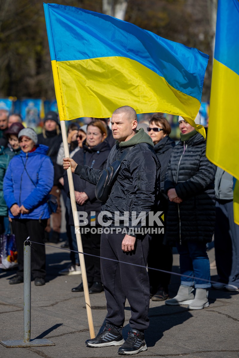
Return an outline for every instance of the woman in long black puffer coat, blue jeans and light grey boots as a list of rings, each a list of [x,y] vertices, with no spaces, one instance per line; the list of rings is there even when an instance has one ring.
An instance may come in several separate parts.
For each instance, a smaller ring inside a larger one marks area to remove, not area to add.
[[[185,276],[181,276],[177,295],[165,303],[200,310],[209,306],[207,289],[211,283],[206,243],[212,240],[215,226],[216,167],[206,158],[202,135],[182,117],[178,122],[181,141],[172,151],[164,184],[169,198],[165,239],[176,245],[180,271]],[[199,114],[195,122],[200,124]]]

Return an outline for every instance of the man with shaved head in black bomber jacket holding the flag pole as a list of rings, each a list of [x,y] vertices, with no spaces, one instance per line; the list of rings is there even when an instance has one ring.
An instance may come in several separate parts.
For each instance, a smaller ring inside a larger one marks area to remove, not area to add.
[[[152,139],[143,129],[137,131],[137,124],[137,114],[129,106],[118,108],[111,117],[116,145],[111,149],[107,167],[125,151],[129,154],[122,161],[110,196],[101,207],[101,211],[107,213],[103,220],[111,220],[108,227],[113,228],[112,233],[101,234],[101,279],[108,311],[106,326],[94,339],[86,341],[88,347],[121,345],[119,354],[136,354],[147,350],[144,330],[149,325],[149,279],[146,266],[150,236],[132,232],[132,213],[136,212],[138,217],[145,212],[148,216],[150,211],[157,208],[159,201],[160,164],[153,150]],[[102,173],[87,165],[77,165],[70,158],[64,158],[63,163],[64,169],[71,166],[72,173],[95,185]],[[128,223],[124,220],[126,213]],[[118,233],[117,216],[124,221]],[[130,304],[131,318],[128,339],[124,343],[122,328],[126,298]]]

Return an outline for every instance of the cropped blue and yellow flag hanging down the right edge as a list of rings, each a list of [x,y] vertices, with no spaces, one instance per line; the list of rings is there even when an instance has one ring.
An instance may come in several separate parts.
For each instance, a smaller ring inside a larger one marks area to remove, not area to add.
[[[206,156],[239,180],[239,2],[219,0]],[[234,219],[239,224],[239,185]]]

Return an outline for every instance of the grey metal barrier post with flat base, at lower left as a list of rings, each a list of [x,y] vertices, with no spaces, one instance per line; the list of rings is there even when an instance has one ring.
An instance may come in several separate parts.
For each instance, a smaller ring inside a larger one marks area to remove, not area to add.
[[[0,343],[7,348],[16,347],[40,347],[55,345],[46,338],[31,340],[31,242],[30,236],[24,241],[24,332],[23,340],[3,340]]]

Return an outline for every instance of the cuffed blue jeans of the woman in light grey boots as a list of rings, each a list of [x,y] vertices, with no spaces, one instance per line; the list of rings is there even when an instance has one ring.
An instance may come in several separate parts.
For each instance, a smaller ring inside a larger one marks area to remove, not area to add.
[[[210,263],[206,252],[206,243],[184,241],[181,245],[176,243],[176,246],[180,255],[181,274],[197,277],[197,279],[191,279],[181,276],[181,285],[190,287],[194,285],[198,289],[211,287]],[[200,279],[206,279],[209,282]]]

